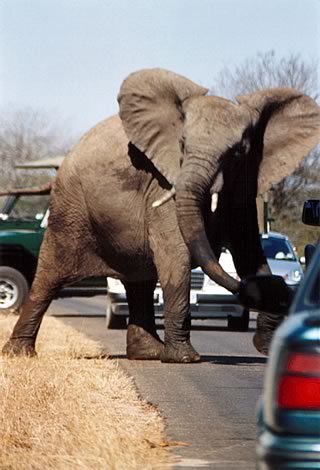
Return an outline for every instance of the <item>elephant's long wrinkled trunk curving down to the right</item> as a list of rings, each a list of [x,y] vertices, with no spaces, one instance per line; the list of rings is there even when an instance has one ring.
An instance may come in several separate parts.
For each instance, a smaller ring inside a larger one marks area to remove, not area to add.
[[[217,175],[212,159],[188,155],[176,188],[179,227],[194,260],[217,284],[236,293],[239,282],[218,263],[206,235],[203,206]]]

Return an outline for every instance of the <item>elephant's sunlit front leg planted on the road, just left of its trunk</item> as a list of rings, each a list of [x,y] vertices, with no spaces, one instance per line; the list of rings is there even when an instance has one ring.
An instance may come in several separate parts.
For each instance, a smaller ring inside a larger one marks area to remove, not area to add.
[[[150,245],[164,298],[164,349],[161,362],[199,362],[190,342],[190,253],[170,203],[153,212]]]

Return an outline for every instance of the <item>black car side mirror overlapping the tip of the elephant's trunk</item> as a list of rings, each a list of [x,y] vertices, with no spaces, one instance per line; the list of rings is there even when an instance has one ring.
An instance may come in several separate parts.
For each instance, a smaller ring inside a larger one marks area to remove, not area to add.
[[[240,283],[239,301],[248,309],[286,314],[293,292],[281,276],[247,276]]]

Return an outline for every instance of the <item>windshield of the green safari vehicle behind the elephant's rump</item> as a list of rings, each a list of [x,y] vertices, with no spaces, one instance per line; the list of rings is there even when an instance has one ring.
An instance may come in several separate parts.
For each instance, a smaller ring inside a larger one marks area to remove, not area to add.
[[[6,204],[1,204],[2,220],[42,220],[48,208],[49,196],[21,195],[17,197],[15,204],[7,210]],[[0,201],[2,202],[2,201]]]

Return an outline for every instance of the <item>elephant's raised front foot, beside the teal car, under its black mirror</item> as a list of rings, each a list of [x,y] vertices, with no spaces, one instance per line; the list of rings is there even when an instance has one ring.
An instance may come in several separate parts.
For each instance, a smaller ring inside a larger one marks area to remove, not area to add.
[[[273,315],[264,312],[258,314],[257,329],[252,342],[256,350],[264,356],[268,356],[274,332],[283,318],[283,315]]]

